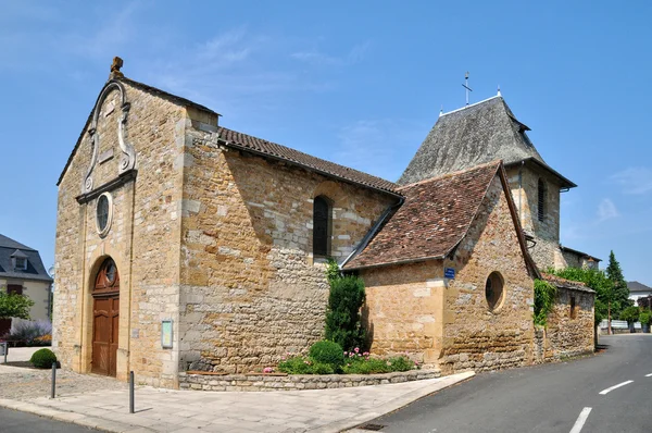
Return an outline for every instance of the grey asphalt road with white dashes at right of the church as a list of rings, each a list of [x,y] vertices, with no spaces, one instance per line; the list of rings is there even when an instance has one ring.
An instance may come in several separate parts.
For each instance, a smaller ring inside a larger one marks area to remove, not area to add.
[[[652,432],[652,336],[600,343],[606,350],[593,357],[481,373],[366,424],[383,433]]]

